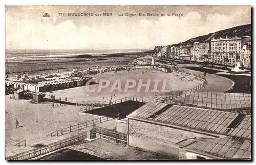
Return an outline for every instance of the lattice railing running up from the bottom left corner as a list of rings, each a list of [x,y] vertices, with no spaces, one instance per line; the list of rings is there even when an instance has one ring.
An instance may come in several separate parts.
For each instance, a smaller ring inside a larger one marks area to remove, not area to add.
[[[28,160],[28,159],[31,159],[31,158],[34,158],[34,157],[37,157],[37,156],[40,156],[40,155],[44,155],[46,153],[49,153],[49,152],[52,152],[52,151],[55,151],[55,150],[58,150],[60,148],[75,144],[75,143],[77,143],[77,142],[79,142],[83,139],[86,139],[86,137],[87,137],[87,132],[83,132],[83,133],[80,133],[78,135],[69,137],[67,139],[64,139],[64,140],[61,140],[61,141],[58,141],[58,142],[55,142],[55,143],[51,143],[51,144],[46,145],[44,147],[40,147],[40,148],[37,148],[37,149],[22,152],[22,153],[13,155],[13,156],[9,156],[6,159],[7,160]]]

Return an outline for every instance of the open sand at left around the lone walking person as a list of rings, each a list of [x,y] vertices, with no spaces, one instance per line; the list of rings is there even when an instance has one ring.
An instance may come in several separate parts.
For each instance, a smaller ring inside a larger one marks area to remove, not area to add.
[[[16,143],[26,139],[27,145],[45,139],[47,134],[61,128],[76,125],[85,121],[99,118],[99,116],[79,115],[78,106],[52,107],[52,103],[32,104],[31,100],[13,100],[6,95],[5,114],[5,143],[6,150],[17,149]],[[18,119],[19,128],[15,127]]]

